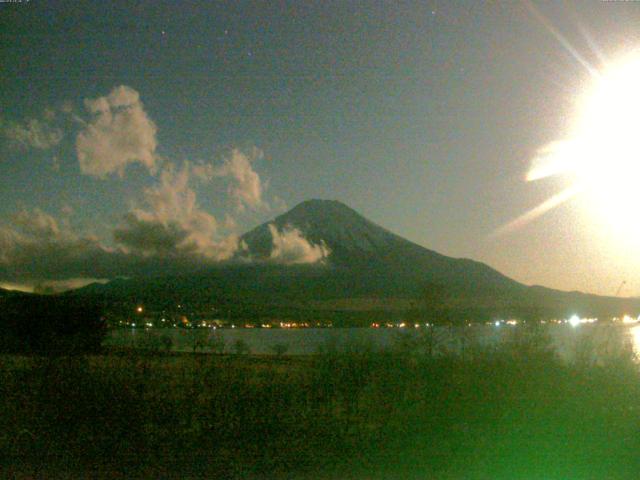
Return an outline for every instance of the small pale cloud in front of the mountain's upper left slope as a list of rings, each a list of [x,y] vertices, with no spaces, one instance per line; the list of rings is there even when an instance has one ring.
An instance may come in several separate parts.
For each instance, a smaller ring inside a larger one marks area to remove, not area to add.
[[[324,242],[319,245],[309,243],[300,230],[293,227],[285,227],[281,232],[275,225],[269,225],[269,232],[273,241],[271,260],[277,263],[316,263],[331,253]]]

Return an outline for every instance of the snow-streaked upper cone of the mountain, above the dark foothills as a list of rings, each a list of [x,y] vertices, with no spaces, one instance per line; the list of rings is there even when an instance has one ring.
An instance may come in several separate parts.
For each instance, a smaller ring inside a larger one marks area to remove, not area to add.
[[[456,289],[524,288],[480,262],[447,257],[410,242],[334,200],[308,200],[245,234],[242,239],[258,258],[271,252],[269,225],[279,231],[293,227],[312,244],[326,244],[331,251],[328,263],[338,269]]]

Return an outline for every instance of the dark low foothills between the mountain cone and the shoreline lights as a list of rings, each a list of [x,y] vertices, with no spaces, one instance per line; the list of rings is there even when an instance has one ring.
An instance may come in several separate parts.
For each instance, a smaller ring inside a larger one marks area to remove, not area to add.
[[[107,285],[91,285],[68,296],[100,301],[108,313],[122,315],[130,313],[136,304],[143,304],[147,311],[207,311],[209,316],[236,323],[288,320],[331,322],[336,327],[388,322],[464,325],[509,318],[535,322],[572,315],[609,319],[640,313],[638,299],[542,287],[501,290],[491,285],[403,281],[399,277],[354,276],[352,272],[341,274],[308,267],[293,272],[285,275],[277,267],[261,267],[214,270],[207,276],[121,279]],[[189,307],[178,311],[177,305]]]

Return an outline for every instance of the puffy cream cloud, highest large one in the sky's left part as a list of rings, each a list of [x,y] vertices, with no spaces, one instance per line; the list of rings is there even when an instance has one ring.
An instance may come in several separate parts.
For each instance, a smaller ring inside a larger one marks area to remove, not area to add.
[[[117,173],[122,177],[127,165],[136,162],[155,172],[157,128],[138,92],[122,85],[106,97],[84,103],[92,117],[76,138],[82,173],[100,178]]]

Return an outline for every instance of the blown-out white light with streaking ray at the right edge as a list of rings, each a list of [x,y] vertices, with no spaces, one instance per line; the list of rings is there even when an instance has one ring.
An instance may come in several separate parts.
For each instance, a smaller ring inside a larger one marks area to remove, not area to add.
[[[592,74],[567,138],[538,151],[528,181],[567,176],[569,186],[497,233],[519,228],[574,196],[609,226],[640,238],[640,51]],[[634,230],[629,231],[632,227]]]

